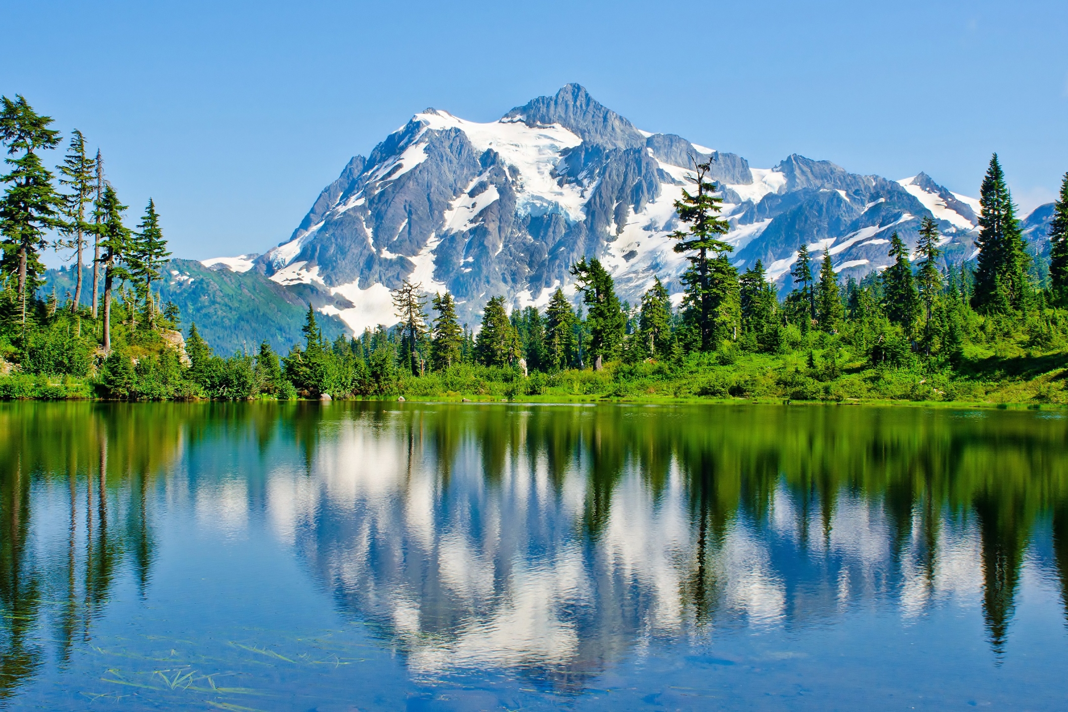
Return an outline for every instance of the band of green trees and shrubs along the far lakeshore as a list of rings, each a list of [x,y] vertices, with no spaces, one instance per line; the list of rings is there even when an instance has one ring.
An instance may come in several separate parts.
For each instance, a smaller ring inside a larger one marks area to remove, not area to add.
[[[155,204],[127,227],[78,131],[53,176],[41,158],[60,142],[50,124],[2,97],[0,399],[1068,405],[1068,175],[1047,258],[1023,239],[996,155],[964,263],[946,260],[926,217],[915,249],[893,233],[893,264],[860,282],[839,282],[826,246],[800,244],[781,299],[759,260],[741,273],[732,264],[710,163],[695,163],[671,236],[688,262],[681,295],[653,278],[631,305],[584,257],[570,267],[574,292],[556,288],[544,310],[493,297],[472,328],[451,294],[406,281],[393,327],[329,341],[309,305],[288,353],[265,341],[223,358],[195,325],[183,335],[179,310],[154,290],[170,255]],[[62,300],[38,294],[47,247],[76,260]]]

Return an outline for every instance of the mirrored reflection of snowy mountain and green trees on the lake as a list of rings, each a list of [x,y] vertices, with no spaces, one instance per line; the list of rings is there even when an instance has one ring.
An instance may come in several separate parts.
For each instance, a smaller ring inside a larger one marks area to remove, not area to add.
[[[578,694],[657,640],[969,602],[1000,662],[1026,566],[1068,600],[1066,436],[1048,412],[6,405],[0,700],[90,644],[119,579],[152,597],[175,511],[265,522],[415,679]]]

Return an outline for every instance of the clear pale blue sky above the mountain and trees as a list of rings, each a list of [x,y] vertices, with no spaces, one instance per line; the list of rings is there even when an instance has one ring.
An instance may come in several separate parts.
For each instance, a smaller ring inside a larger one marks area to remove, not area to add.
[[[278,243],[426,107],[492,121],[569,81],[756,167],[800,153],[976,195],[996,151],[1025,210],[1068,171],[1065,0],[0,0],[0,93],[99,145],[130,224],[154,197],[178,256]]]

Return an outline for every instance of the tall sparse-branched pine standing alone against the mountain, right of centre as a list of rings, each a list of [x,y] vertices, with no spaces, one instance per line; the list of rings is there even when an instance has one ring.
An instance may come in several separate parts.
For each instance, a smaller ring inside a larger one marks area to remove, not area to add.
[[[712,259],[734,250],[719,238],[727,234],[731,225],[719,217],[723,199],[714,195],[717,186],[708,179],[711,165],[711,158],[704,163],[695,163],[695,175],[687,175],[687,179],[697,187],[697,191],[690,193],[684,189],[681,200],[675,201],[675,212],[680,221],[689,225],[689,228],[675,231],[669,236],[678,240],[675,252],[689,253],[686,258],[690,267],[681,276],[686,285],[684,304],[695,317],[701,334],[702,351],[714,348],[716,313],[722,311],[722,299],[732,291],[729,285],[721,283],[722,280],[731,279],[731,270],[724,270],[722,266],[713,269],[710,264]],[[737,271],[735,281],[737,282]]]

